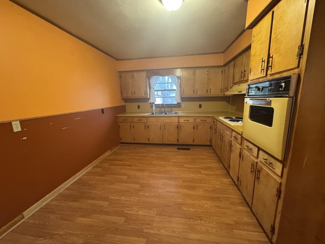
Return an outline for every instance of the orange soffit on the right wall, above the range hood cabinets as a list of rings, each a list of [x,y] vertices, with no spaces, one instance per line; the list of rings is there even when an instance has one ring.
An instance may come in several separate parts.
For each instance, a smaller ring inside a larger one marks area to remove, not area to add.
[[[246,29],[246,31],[224,52],[223,64],[227,63],[243,49],[248,47],[251,44],[251,41],[252,29]]]

